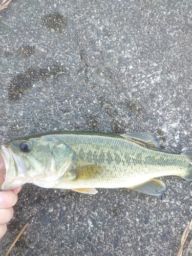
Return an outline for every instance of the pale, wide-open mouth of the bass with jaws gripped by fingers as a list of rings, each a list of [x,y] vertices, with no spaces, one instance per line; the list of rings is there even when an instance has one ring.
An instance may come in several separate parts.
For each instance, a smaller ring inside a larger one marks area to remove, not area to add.
[[[10,190],[28,182],[26,170],[30,163],[24,157],[11,152],[9,148],[0,147],[0,190]]]

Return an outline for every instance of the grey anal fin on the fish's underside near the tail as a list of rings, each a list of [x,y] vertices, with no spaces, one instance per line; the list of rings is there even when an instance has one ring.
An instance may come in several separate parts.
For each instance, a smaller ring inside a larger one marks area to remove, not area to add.
[[[144,194],[152,195],[152,196],[161,196],[165,191],[166,186],[160,180],[151,179],[145,183],[142,183],[133,187],[127,187],[127,188],[142,192]]]

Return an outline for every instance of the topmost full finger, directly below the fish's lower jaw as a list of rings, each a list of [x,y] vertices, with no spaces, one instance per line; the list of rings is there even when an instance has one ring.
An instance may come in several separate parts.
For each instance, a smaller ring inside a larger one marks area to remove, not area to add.
[[[17,202],[17,194],[12,191],[1,191],[0,192],[0,208],[10,208]]]

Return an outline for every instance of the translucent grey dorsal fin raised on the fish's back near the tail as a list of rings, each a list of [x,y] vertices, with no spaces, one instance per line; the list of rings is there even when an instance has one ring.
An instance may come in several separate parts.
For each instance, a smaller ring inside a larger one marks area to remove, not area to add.
[[[124,133],[121,134],[121,136],[126,139],[133,139],[136,142],[138,141],[139,144],[143,144],[153,150],[158,150],[160,148],[160,143],[153,133]]]

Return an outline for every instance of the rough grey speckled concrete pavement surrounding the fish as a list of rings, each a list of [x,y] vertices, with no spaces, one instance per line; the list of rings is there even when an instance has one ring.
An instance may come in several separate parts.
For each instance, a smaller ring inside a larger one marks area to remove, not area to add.
[[[55,130],[146,131],[167,151],[192,150],[191,1],[12,2],[0,13],[1,143]],[[11,255],[176,255],[191,182],[162,180],[163,200],[25,185],[0,254],[34,216]]]

